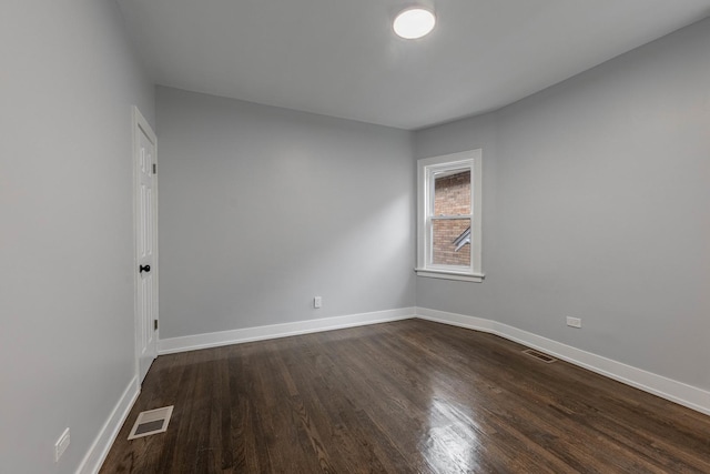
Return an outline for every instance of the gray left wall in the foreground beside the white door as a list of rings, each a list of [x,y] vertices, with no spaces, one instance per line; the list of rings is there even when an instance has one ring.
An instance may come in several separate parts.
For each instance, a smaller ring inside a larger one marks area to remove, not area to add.
[[[131,105],[152,120],[153,88],[112,0],[1,10],[0,472],[70,473],[135,373]]]

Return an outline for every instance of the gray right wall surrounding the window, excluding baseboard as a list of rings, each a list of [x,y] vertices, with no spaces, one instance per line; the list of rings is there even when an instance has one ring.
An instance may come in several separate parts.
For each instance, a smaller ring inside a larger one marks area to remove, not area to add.
[[[487,274],[419,278],[417,305],[710,389],[708,84],[710,20],[496,113],[417,132],[416,158],[484,149]]]

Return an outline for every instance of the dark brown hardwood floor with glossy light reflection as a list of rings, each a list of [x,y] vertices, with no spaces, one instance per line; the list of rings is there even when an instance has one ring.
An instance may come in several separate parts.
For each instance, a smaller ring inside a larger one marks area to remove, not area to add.
[[[710,473],[710,417],[523,349],[408,320],[164,355],[101,472]]]

